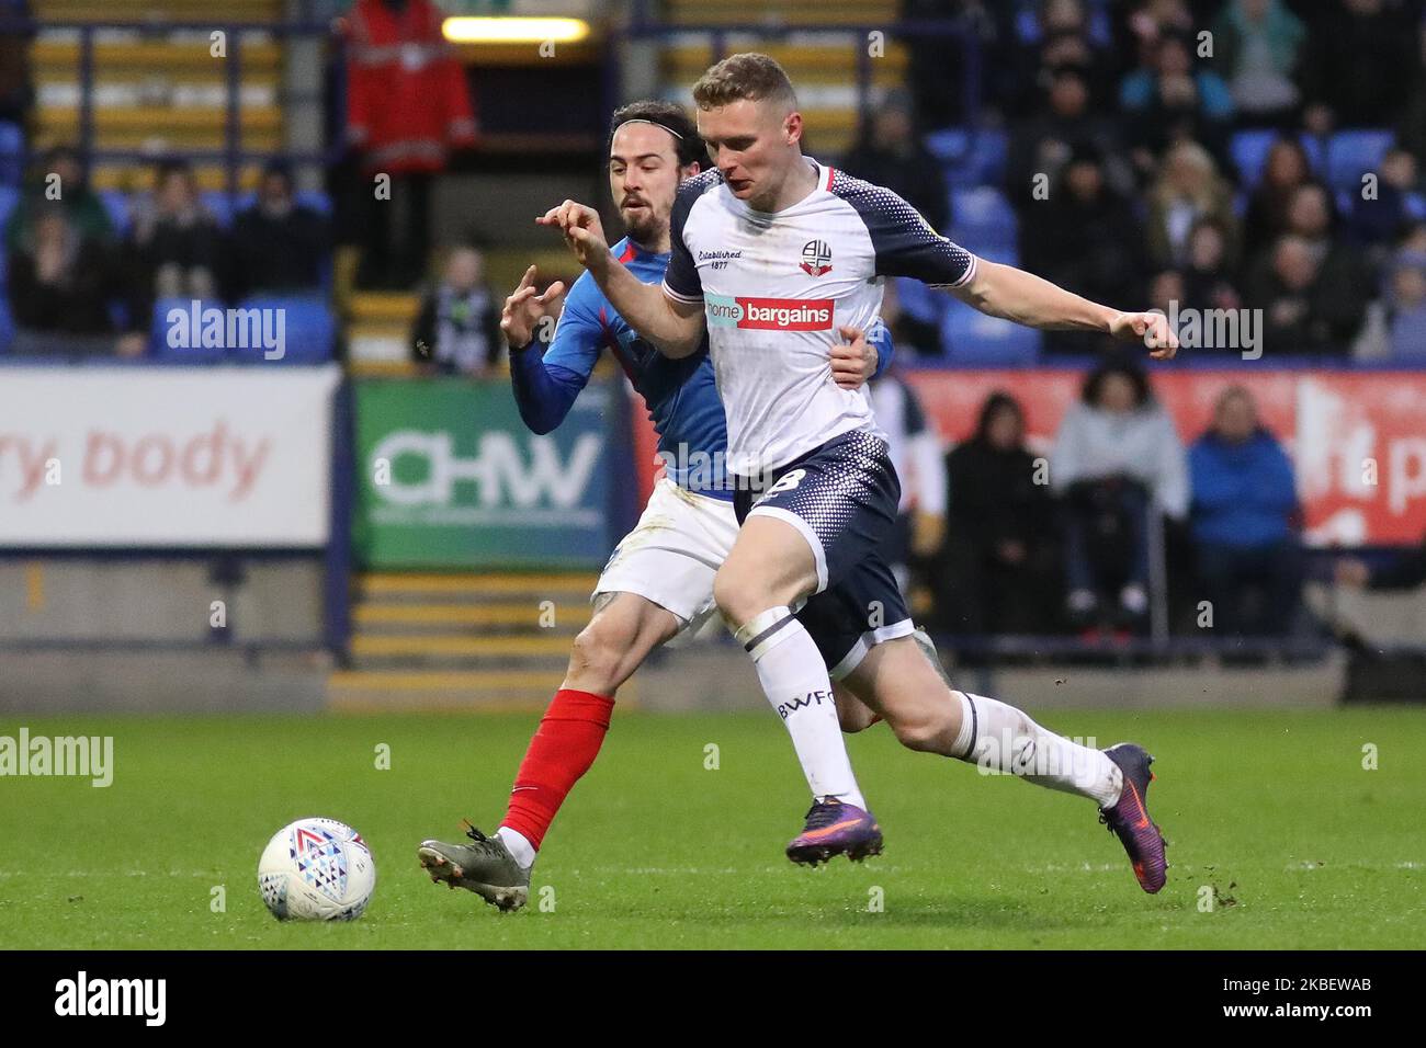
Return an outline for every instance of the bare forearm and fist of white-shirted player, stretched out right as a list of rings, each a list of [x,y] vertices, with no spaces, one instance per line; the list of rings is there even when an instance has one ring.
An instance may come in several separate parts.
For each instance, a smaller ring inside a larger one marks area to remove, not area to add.
[[[1102,331],[1114,338],[1142,342],[1158,361],[1178,352],[1178,335],[1164,314],[1119,312],[1012,265],[978,258],[975,275],[950,291],[983,314],[1031,328]]]

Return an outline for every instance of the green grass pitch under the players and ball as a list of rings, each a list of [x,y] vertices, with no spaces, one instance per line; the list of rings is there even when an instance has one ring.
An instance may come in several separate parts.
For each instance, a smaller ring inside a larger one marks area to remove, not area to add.
[[[1151,807],[1172,868],[1156,897],[1092,803],[910,753],[884,726],[850,749],[886,854],[793,867],[781,850],[807,798],[771,714],[619,711],[545,841],[530,907],[502,915],[431,884],[415,846],[459,836],[463,816],[495,830],[536,720],[6,717],[11,737],[21,723],[113,734],[116,774],[108,788],[0,779],[0,947],[1426,945],[1419,710],[1045,717],[1158,757]],[[1368,743],[1376,770],[1362,767]],[[359,921],[279,924],[262,908],[258,853],[301,816],[345,820],[372,846],[376,894]]]

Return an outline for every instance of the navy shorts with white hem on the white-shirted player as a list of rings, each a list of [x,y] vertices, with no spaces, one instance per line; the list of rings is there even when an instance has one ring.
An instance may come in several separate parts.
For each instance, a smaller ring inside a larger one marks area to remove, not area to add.
[[[887,443],[864,429],[834,436],[771,475],[767,493],[734,492],[739,523],[771,516],[796,528],[817,563],[817,590],[797,612],[833,680],[873,644],[910,636],[911,613],[881,556],[897,522],[901,482]],[[754,500],[756,499],[756,500]]]

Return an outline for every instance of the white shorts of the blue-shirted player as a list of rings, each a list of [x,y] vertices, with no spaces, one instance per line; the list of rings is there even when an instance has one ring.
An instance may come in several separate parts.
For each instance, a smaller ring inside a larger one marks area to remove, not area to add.
[[[592,602],[603,593],[637,593],[677,616],[683,629],[707,622],[713,576],[737,539],[733,503],[696,495],[660,478],[639,523],[615,546]]]

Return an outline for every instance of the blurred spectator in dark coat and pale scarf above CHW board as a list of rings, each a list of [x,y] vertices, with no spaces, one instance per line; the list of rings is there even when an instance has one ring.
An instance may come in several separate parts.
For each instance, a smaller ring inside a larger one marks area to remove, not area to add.
[[[442,375],[483,375],[499,359],[501,309],[485,284],[485,255],[459,245],[445,275],[421,304],[411,332],[411,358]]]

